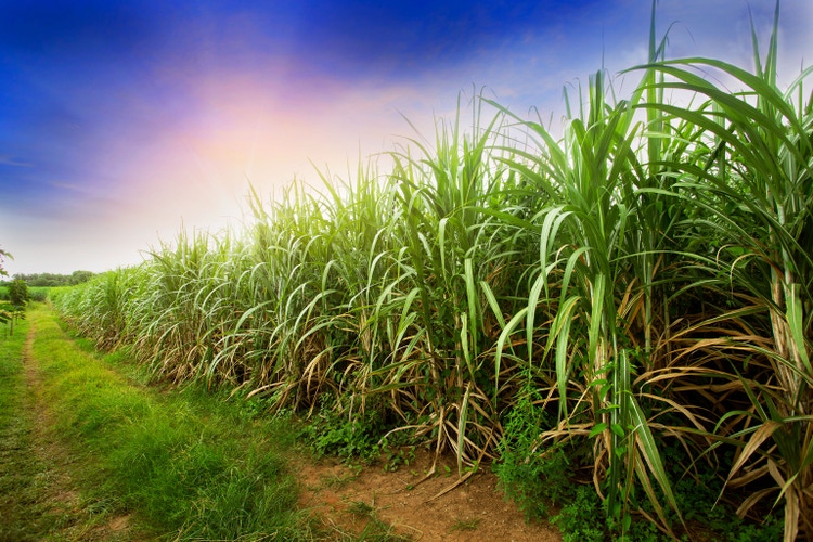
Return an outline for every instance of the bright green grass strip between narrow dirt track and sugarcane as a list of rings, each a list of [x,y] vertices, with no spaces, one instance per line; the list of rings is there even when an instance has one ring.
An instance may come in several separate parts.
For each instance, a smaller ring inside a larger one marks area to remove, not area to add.
[[[29,312],[28,325],[37,400],[48,405],[51,430],[95,509],[143,520],[171,540],[314,538],[286,470],[283,451],[293,436],[284,422],[253,418],[194,389],[158,393],[133,385],[111,369],[120,356],[100,358],[78,345],[43,306]],[[9,343],[3,363],[21,359],[23,336]],[[16,366],[16,391],[3,386],[11,401],[25,392]]]

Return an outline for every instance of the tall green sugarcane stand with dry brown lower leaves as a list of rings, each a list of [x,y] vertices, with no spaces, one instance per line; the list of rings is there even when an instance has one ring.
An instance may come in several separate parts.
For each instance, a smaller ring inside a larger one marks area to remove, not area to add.
[[[156,377],[377,416],[461,473],[530,400],[529,454],[588,450],[572,476],[621,532],[676,535],[674,485],[710,469],[741,516],[783,503],[785,539],[810,535],[810,70],[777,88],[776,22],[752,72],[664,60],[654,27],[631,95],[597,72],[560,139],[474,95],[388,173],[253,192],[245,232],[182,233],[54,302]]]

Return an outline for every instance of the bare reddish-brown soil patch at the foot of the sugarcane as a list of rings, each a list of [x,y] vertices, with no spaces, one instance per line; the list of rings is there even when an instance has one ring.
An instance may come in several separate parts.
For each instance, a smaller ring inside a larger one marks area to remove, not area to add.
[[[462,480],[455,459],[441,457],[435,474],[427,477],[433,456],[417,450],[415,460],[396,472],[384,470],[382,464],[361,468],[332,460],[302,461],[297,465],[304,487],[301,504],[337,532],[358,534],[375,518],[391,526],[393,534],[410,540],[562,540],[555,527],[527,522],[487,469]]]

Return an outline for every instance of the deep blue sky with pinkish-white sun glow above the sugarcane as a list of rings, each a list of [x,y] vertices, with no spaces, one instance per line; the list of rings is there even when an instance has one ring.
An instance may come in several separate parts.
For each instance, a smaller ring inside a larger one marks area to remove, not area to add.
[[[660,1],[668,55],[750,67],[749,7]],[[451,116],[473,88],[524,115],[646,60],[651,2],[0,0],[0,247],[11,273],[103,271],[180,228],[237,224],[313,165],[347,177]],[[780,76],[813,56],[813,2],[785,0]],[[630,77],[630,76],[628,76]],[[623,89],[621,81],[618,87]]]

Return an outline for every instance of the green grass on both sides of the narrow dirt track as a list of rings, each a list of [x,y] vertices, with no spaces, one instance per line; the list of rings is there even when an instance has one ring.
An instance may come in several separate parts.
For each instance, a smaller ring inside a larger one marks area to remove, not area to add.
[[[29,311],[29,326],[35,390],[23,382],[26,333],[0,341],[4,540],[90,540],[98,526],[122,516],[133,527],[121,537],[317,538],[307,512],[297,509],[283,456],[292,444],[288,424],[255,420],[192,388],[159,393],[138,386],[120,374],[120,356],[100,358],[78,345],[44,306]],[[70,509],[54,508],[48,490],[38,489],[53,468],[27,453],[37,421],[21,413],[31,403],[42,406],[50,437],[70,456],[60,465],[81,493]]]

